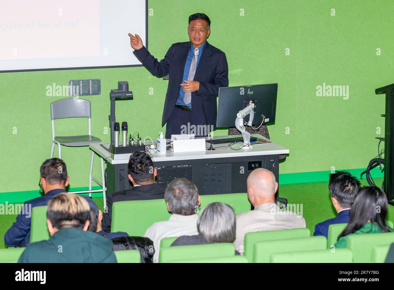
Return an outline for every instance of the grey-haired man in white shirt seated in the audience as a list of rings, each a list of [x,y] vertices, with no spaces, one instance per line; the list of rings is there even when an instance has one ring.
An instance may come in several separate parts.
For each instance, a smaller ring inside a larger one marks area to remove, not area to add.
[[[144,237],[153,241],[155,253],[153,262],[159,260],[160,241],[162,238],[194,236],[197,231],[197,211],[200,196],[197,187],[185,178],[177,178],[165,189],[165,202],[171,217],[168,221],[159,221],[151,225]]]

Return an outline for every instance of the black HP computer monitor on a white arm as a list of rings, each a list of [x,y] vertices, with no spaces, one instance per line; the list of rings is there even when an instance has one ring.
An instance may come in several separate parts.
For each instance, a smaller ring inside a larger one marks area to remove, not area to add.
[[[251,86],[233,86],[219,88],[219,107],[216,127],[235,127],[237,113],[247,107],[250,101],[255,103],[253,126],[275,122],[276,96],[278,84],[255,84]],[[249,116],[245,116],[245,122]]]

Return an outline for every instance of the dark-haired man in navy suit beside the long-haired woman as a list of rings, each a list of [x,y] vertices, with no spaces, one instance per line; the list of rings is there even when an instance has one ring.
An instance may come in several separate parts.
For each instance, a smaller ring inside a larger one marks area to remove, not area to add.
[[[331,201],[338,215],[315,226],[314,236],[328,236],[328,227],[333,224],[348,223],[350,207],[360,190],[360,181],[348,172],[337,171],[330,174],[329,191]]]

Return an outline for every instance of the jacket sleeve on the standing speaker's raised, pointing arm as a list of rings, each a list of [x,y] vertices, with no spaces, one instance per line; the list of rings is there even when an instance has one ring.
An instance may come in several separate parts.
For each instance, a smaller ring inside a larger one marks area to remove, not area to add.
[[[143,66],[151,72],[152,75],[156,77],[163,77],[169,73],[172,50],[173,46],[171,45],[164,58],[160,60],[160,62],[158,62],[157,58],[154,58],[154,56],[149,53],[145,46],[141,47],[141,49],[133,51],[133,54],[138,58]]]

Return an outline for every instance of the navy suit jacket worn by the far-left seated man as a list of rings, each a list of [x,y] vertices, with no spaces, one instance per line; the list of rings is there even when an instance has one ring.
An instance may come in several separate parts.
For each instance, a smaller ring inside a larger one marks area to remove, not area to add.
[[[29,204],[31,204],[31,208],[34,208],[36,206],[46,206],[52,197],[63,192],[67,191],[63,189],[53,189],[51,191],[48,191],[46,195],[39,196],[37,198],[24,202],[23,206],[24,208],[28,208],[29,210]],[[87,200],[90,208],[93,208],[98,215],[99,209],[97,208],[97,204],[95,204],[95,202],[91,200],[89,196],[82,195],[82,197]],[[30,243],[30,227],[32,225],[32,213],[26,211],[24,213],[25,214],[19,214],[17,216],[17,221],[13,223],[11,228],[7,230],[6,235],[4,236],[4,242],[8,247],[15,247],[17,245],[26,247],[26,245]]]

